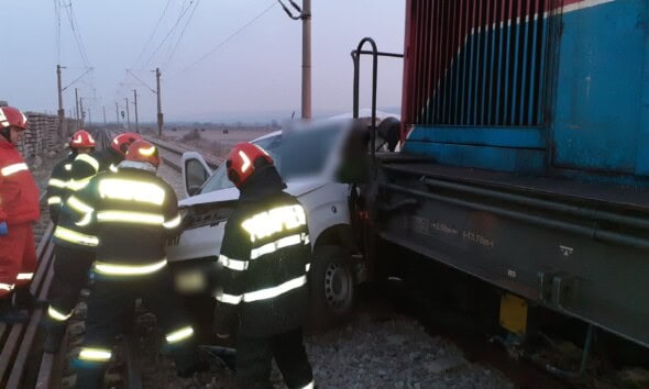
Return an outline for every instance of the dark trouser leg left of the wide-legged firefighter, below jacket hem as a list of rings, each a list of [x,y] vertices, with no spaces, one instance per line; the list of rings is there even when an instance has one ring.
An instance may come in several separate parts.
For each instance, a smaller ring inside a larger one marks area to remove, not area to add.
[[[88,281],[95,253],[57,244],[54,246],[54,257],[50,305],[67,315],[77,304],[79,292]]]

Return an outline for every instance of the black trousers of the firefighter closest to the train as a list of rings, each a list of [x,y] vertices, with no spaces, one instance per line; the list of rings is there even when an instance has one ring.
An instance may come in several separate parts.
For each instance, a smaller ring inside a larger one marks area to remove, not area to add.
[[[277,367],[288,388],[304,388],[314,379],[302,345],[302,330],[295,329],[270,337],[239,334],[237,338],[237,380],[240,388],[272,389],[271,363]]]

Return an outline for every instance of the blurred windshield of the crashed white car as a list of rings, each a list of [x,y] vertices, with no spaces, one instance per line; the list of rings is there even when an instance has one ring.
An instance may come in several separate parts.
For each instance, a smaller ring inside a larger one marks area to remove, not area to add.
[[[279,175],[288,181],[297,177],[320,174],[340,131],[340,125],[328,124],[306,131],[290,131],[252,143],[271,154]],[[228,179],[226,164],[221,164],[204,184],[199,193],[232,187],[234,185]]]

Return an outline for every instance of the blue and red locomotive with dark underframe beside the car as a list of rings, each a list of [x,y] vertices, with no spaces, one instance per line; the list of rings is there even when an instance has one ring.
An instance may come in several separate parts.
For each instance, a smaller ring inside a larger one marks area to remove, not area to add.
[[[502,288],[513,333],[535,304],[649,346],[648,2],[406,4],[377,234]]]

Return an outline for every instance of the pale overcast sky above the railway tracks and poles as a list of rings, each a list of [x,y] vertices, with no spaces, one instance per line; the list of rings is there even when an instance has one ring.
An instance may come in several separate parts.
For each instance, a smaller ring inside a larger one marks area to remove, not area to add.
[[[95,122],[103,121],[102,107],[114,121],[116,102],[124,110],[132,89],[140,120],[153,121],[147,87],[155,89],[156,67],[165,121],[300,115],[301,22],[276,0],[14,0],[3,2],[2,14],[0,100],[20,109],[56,111],[62,64],[64,87],[92,67],[65,90],[64,107],[69,115],[76,87]],[[314,116],[351,111],[350,52],[371,36],[380,51],[402,53],[404,15],[405,0],[312,1]],[[363,63],[369,81],[370,57]],[[399,59],[380,60],[381,108],[400,105],[402,70]],[[367,107],[370,84],[363,86]]]

